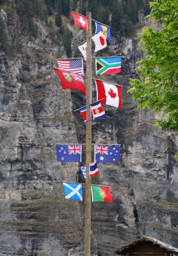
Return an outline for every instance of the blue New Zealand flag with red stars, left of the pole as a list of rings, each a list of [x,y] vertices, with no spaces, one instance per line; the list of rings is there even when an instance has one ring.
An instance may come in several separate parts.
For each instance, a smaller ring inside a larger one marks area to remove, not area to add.
[[[82,145],[63,146],[56,145],[57,161],[60,162],[81,162]]]

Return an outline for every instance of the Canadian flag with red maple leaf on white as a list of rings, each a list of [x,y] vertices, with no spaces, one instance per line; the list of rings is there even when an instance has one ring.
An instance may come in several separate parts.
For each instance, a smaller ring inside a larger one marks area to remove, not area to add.
[[[110,105],[116,108],[121,108],[121,87],[118,85],[109,84],[100,80],[95,80],[97,100],[101,103]],[[101,100],[105,98],[104,100]]]

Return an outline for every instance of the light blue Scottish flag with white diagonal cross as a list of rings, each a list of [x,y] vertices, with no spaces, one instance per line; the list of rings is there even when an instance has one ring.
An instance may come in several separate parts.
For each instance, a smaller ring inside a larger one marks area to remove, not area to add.
[[[82,201],[82,184],[62,183],[66,199],[76,199]]]

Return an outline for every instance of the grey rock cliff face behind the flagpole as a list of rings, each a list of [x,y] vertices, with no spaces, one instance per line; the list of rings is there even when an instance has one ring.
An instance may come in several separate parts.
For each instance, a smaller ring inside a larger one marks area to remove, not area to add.
[[[78,256],[84,254],[85,191],[83,202],[65,200],[62,180],[84,182],[79,166],[85,163],[85,148],[82,163],[61,163],[55,143],[85,142],[81,114],[72,112],[85,99],[79,91],[61,89],[53,67],[57,57],[66,57],[63,46],[52,43],[39,21],[38,26],[36,39],[20,36],[22,50],[14,59],[0,52],[0,253]],[[75,51],[85,34],[69,28]],[[12,29],[6,27],[9,38]],[[93,256],[114,255],[140,235],[178,247],[178,137],[155,127],[158,114],[140,111],[126,93],[128,79],[138,77],[137,42],[115,35],[102,52],[122,56],[122,72],[102,76],[123,85],[122,109],[104,105],[106,117],[92,123],[92,140],[120,143],[121,161],[99,163],[92,178],[94,184],[109,185],[113,198],[113,203],[92,203]]]

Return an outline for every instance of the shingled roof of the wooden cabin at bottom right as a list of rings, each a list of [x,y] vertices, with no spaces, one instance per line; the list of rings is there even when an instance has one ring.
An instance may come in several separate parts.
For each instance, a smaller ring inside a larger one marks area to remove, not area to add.
[[[117,249],[115,251],[115,253],[118,255],[126,255],[127,252],[131,252],[132,250],[134,250],[141,244],[144,244],[146,241],[151,242],[151,243],[149,243],[150,245],[157,245],[155,247],[155,249],[158,249],[158,247],[159,247],[160,249],[161,248],[164,249],[165,252],[166,251],[169,252],[169,254],[170,253],[178,254],[178,248],[175,248],[171,245],[165,244],[165,243],[161,242],[160,240],[153,238],[153,237],[149,237],[149,236],[141,236],[141,238],[139,238],[138,240],[135,240],[132,243],[127,244],[127,245]]]

